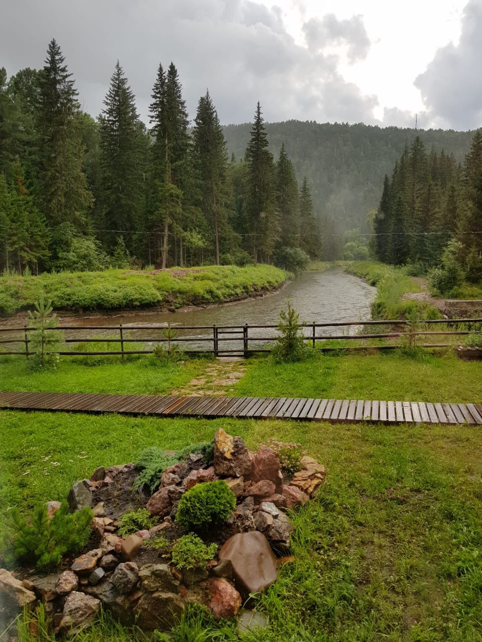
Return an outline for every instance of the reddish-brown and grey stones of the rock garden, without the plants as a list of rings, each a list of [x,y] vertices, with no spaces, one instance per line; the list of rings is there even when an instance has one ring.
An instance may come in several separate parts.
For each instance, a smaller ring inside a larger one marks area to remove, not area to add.
[[[220,429],[213,465],[203,466],[201,455],[190,455],[163,473],[159,489],[147,501],[150,514],[159,518],[156,526],[120,537],[116,520],[103,516],[103,505],[98,503],[93,507],[98,548],[77,557],[60,575],[29,575],[20,581],[0,569],[0,602],[3,599],[12,610],[42,600],[53,631],[64,636],[91,625],[101,603],[121,623],[136,622],[145,630],[170,629],[190,603],[206,605],[215,618],[238,616],[240,630],[246,630],[250,621],[260,625],[260,614],[241,605],[250,593],[271,586],[280,563],[291,560],[293,525],[285,509],[305,504],[325,478],[325,468],[313,458],[303,457],[301,465],[303,469],[283,483],[277,453],[269,448],[250,452],[242,438]],[[96,489],[132,469],[133,464],[100,468],[90,480],[76,482],[68,498],[71,510],[92,507]],[[147,540],[174,528],[181,495],[197,483],[218,479],[233,491],[237,507],[220,529],[224,544],[208,569],[177,569],[163,562],[160,554],[159,563],[137,564]],[[49,502],[49,515],[58,507],[59,503]]]

